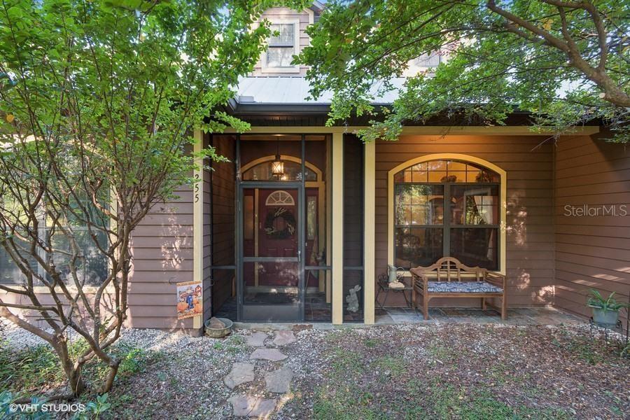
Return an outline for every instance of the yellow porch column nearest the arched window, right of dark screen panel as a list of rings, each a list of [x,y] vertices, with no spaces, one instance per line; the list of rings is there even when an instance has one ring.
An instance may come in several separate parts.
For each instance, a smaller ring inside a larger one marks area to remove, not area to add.
[[[374,323],[374,212],[376,202],[374,200],[376,188],[376,142],[371,141],[365,144],[364,174],[363,181],[363,296],[365,303],[364,322]]]

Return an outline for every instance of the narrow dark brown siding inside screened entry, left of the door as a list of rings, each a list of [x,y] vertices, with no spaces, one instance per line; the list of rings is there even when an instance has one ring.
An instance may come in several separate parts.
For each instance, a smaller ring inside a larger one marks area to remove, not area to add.
[[[216,153],[230,162],[212,162],[211,172],[211,265],[235,265],[235,144],[236,137],[213,136]],[[207,255],[207,254],[204,254]],[[216,312],[232,295],[233,269],[215,269],[212,273],[212,311]]]

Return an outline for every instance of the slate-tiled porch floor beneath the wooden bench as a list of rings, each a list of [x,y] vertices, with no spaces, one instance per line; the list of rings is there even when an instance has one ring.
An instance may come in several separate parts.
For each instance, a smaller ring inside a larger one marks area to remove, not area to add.
[[[381,325],[400,323],[477,323],[506,325],[576,325],[585,321],[553,307],[528,307],[507,309],[507,320],[492,309],[478,308],[429,308],[429,319],[425,321],[421,312],[402,307],[377,308],[376,323]]]

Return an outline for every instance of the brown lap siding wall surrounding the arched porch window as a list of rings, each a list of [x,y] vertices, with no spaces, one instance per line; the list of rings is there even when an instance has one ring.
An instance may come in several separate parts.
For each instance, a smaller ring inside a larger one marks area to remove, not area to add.
[[[434,153],[482,158],[507,172],[507,276],[510,305],[554,299],[553,152],[545,137],[402,136],[376,146],[376,272],[387,265],[387,172]],[[391,295],[391,294],[390,294]],[[404,304],[400,295],[389,304]],[[478,300],[436,299],[435,306],[479,305]]]

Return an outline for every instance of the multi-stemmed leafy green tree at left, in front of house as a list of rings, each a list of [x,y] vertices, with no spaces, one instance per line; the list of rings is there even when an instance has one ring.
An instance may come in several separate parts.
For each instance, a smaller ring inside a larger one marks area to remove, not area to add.
[[[94,385],[81,375],[92,358],[109,366],[93,388],[111,388],[132,232],[155,203],[193,182],[193,128],[247,128],[212,110],[258,59],[269,25],[252,24],[267,6],[2,1],[0,244],[22,279],[0,285],[11,297],[0,300],[0,315],[55,349],[71,388],[60,396]],[[201,157],[219,158],[212,148]],[[88,279],[85,265],[98,258],[106,274]],[[69,351],[70,331],[87,342],[83,353]]]

